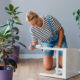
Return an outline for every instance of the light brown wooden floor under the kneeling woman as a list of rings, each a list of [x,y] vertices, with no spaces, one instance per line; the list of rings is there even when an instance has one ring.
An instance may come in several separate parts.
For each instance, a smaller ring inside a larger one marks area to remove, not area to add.
[[[18,68],[16,72],[14,72],[13,80],[28,80],[29,78],[32,78],[33,80],[63,80],[40,76],[40,72],[53,73],[55,70],[44,70],[42,59],[20,60],[18,63]],[[68,80],[80,80],[80,75]]]

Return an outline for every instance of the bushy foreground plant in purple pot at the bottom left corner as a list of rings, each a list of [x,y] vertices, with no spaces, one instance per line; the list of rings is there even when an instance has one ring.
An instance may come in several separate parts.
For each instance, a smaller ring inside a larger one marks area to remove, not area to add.
[[[12,80],[13,70],[17,68],[16,62],[9,58],[14,48],[9,42],[11,35],[5,28],[0,31],[0,80]]]

